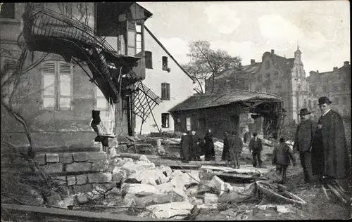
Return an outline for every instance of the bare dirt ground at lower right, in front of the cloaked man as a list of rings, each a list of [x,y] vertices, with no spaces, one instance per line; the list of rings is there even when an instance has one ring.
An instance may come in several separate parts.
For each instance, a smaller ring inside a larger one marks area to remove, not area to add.
[[[348,207],[339,204],[336,200],[326,200],[317,184],[305,184],[303,182],[303,170],[299,164],[299,159],[297,160],[296,166],[289,166],[286,186],[289,192],[307,202],[303,209],[286,206],[289,209],[288,213],[279,213],[276,209],[256,209],[260,200],[253,200],[252,202],[233,204],[229,206],[230,209],[225,211],[201,209],[196,220],[326,220],[349,218]],[[270,164],[270,162],[266,161],[265,164]],[[279,178],[275,171],[270,171],[264,176],[272,180]],[[267,204],[270,204],[270,202]]]

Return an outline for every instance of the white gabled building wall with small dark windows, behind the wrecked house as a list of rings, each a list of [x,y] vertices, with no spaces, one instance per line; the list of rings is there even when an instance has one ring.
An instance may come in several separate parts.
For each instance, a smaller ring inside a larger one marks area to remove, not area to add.
[[[152,113],[145,112],[144,117],[136,117],[135,132],[173,131],[175,122],[168,110],[192,95],[194,80],[148,27],[144,26],[143,33],[146,77],[142,82],[161,98],[162,103],[153,107]],[[152,100],[146,98],[144,107],[148,108]]]

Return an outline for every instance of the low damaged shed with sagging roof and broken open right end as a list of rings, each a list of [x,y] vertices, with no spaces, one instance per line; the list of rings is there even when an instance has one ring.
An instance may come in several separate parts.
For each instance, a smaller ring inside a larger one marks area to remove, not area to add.
[[[277,136],[284,120],[281,98],[244,90],[229,90],[191,96],[169,111],[175,121],[175,131],[195,130],[205,133],[212,129],[215,137],[222,138],[225,131],[244,134],[248,125],[257,131],[263,129],[265,137]],[[262,122],[258,119],[262,118]],[[258,124],[255,124],[258,123]]]

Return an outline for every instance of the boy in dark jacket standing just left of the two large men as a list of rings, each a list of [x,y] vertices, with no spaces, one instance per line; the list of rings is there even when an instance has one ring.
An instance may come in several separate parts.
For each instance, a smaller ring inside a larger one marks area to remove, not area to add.
[[[272,152],[272,164],[276,164],[279,174],[282,173],[282,180],[280,181],[282,184],[287,182],[287,166],[290,164],[290,159],[292,159],[294,166],[296,166],[296,158],[294,157],[294,153],[285,143],[284,138],[280,138],[279,143],[274,145],[274,152]]]

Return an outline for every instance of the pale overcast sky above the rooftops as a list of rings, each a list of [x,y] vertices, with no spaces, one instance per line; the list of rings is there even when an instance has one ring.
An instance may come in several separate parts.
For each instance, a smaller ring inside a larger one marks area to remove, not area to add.
[[[183,1],[138,2],[153,13],[146,20],[180,63],[190,41],[239,55],[242,65],[261,62],[265,51],[293,58],[297,42],[306,75],[331,71],[350,61],[348,1]]]

